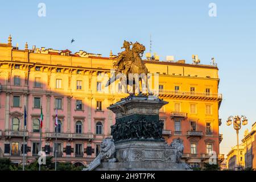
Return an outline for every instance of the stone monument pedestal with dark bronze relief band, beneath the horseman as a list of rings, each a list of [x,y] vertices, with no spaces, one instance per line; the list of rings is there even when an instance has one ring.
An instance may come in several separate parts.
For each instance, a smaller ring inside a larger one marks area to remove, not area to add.
[[[109,106],[108,109],[115,113],[115,125],[111,127],[115,152],[112,162],[105,158],[94,170],[189,169],[179,160],[184,148],[181,140],[169,146],[162,138],[159,109],[166,104],[168,102],[159,98],[129,96]]]

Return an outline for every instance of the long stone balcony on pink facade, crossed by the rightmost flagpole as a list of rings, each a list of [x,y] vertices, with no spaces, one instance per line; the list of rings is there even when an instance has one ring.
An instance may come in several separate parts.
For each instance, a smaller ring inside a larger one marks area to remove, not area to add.
[[[46,133],[46,138],[93,139],[92,133]]]

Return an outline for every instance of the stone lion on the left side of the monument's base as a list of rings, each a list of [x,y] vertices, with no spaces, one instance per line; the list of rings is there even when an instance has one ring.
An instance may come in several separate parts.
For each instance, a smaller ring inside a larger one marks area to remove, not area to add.
[[[114,158],[115,154],[115,144],[113,138],[105,138],[101,143],[100,154],[89,164],[84,171],[92,171],[97,166],[101,164],[101,162],[112,162],[114,163],[116,159]]]

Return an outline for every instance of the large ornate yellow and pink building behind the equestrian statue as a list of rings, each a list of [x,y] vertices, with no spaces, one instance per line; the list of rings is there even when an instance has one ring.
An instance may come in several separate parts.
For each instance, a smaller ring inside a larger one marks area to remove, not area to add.
[[[102,139],[110,135],[114,114],[106,109],[127,94],[109,92],[99,76],[110,76],[113,55],[46,48],[20,50],[0,43],[0,156],[22,162],[24,105],[27,108],[26,161],[39,151],[40,107],[43,110],[42,149],[57,160],[76,165],[90,163],[100,151]],[[185,64],[185,61],[144,60],[148,72],[159,75],[159,97],[169,102],[160,110],[163,135],[168,143],[184,141],[183,160],[203,167],[210,151],[220,155],[221,119],[218,110],[218,68]],[[116,84],[117,89],[122,90]],[[55,115],[58,115],[55,149]]]

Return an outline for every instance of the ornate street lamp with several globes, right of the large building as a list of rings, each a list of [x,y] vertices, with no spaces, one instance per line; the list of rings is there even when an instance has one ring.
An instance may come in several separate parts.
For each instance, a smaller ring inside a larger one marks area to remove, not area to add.
[[[232,115],[230,115],[230,117],[228,117],[228,120],[226,121],[226,125],[230,126],[232,125],[232,121],[233,121],[233,127],[234,129],[237,131],[237,170],[239,171],[240,169],[240,157],[239,157],[239,130],[241,129],[241,119],[242,119],[242,125],[247,125],[248,120],[247,118],[242,115],[241,117],[239,117],[238,115],[233,117]]]

